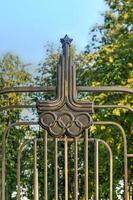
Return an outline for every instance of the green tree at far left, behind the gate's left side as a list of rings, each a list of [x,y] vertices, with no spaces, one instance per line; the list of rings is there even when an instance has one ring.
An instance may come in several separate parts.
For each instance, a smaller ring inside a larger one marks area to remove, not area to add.
[[[0,58],[0,89],[24,86],[30,83],[31,75],[27,72],[26,65],[22,63],[18,56],[7,53]],[[4,94],[0,96],[0,104],[1,107],[23,104],[26,97],[26,95],[18,93]],[[19,121],[22,118],[21,111],[21,109],[8,109],[0,113],[0,133],[3,133],[10,123]],[[8,200],[13,199],[12,195],[16,190],[17,149],[24,138],[28,137],[26,136],[28,131],[29,128],[21,129],[14,127],[11,129],[11,134],[8,137],[8,143],[6,145],[6,199]],[[2,134],[0,138],[2,140]]]

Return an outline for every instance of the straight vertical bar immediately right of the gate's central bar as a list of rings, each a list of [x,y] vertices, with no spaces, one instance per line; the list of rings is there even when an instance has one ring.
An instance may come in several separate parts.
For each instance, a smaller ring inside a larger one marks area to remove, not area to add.
[[[78,138],[74,138],[74,200],[78,200]]]

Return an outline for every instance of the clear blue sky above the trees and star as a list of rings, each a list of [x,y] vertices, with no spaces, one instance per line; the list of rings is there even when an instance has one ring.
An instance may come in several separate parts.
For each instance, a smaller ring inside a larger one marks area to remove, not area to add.
[[[49,42],[66,33],[79,50],[89,30],[102,21],[104,0],[3,0],[0,5],[0,55],[12,52],[37,64]]]

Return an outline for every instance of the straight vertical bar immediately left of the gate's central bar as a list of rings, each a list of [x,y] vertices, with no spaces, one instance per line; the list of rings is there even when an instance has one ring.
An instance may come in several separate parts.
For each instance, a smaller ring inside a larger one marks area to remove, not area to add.
[[[55,152],[54,152],[54,187],[55,187],[55,200],[58,200],[58,138],[55,138]]]

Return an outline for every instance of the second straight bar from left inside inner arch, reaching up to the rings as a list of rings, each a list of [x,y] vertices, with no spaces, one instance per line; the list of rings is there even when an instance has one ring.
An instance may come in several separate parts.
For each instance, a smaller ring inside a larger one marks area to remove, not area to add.
[[[47,169],[47,163],[48,163],[48,157],[47,157],[47,131],[44,133],[44,200],[47,200],[48,198],[48,169]]]

